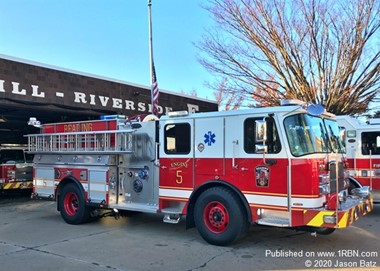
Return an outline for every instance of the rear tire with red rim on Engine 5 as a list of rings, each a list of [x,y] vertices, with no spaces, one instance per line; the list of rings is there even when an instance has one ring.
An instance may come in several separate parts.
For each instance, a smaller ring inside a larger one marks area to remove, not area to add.
[[[62,218],[68,224],[82,224],[90,218],[91,209],[86,206],[82,191],[73,183],[62,188],[58,204]]]

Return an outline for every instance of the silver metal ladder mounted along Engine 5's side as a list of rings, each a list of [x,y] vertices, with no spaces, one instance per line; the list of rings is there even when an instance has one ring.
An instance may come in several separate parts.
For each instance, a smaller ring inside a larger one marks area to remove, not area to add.
[[[133,153],[135,130],[29,134],[30,153]]]

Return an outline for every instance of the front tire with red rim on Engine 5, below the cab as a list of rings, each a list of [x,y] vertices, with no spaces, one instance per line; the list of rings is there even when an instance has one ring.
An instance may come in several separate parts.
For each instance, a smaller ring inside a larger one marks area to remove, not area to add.
[[[212,187],[199,196],[194,220],[202,238],[218,246],[231,244],[249,226],[241,200],[226,187]]]

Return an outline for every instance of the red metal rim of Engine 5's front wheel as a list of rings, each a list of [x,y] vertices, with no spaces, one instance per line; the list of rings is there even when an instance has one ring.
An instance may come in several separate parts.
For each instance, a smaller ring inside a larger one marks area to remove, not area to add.
[[[228,228],[230,216],[222,203],[212,201],[204,209],[203,220],[210,231],[222,233]]]

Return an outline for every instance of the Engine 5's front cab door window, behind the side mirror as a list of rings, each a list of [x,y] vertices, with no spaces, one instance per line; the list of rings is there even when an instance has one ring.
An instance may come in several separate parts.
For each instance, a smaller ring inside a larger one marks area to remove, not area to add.
[[[257,152],[256,145],[262,144],[256,138],[256,120],[263,118],[248,118],[244,121],[244,150],[246,153],[259,153]],[[279,153],[281,151],[281,142],[278,136],[278,131],[273,118],[266,118],[266,131],[267,140],[265,145],[267,153]]]

